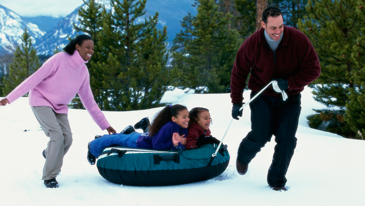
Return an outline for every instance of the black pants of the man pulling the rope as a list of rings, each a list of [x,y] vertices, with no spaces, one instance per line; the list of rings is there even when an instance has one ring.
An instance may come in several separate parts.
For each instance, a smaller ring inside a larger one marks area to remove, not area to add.
[[[251,92],[251,98],[257,92]],[[275,136],[275,151],[268,172],[268,183],[273,187],[284,187],[290,160],[293,156],[297,138],[300,115],[300,94],[283,98],[261,94],[250,103],[251,131],[238,148],[238,160],[249,164],[257,152]]]

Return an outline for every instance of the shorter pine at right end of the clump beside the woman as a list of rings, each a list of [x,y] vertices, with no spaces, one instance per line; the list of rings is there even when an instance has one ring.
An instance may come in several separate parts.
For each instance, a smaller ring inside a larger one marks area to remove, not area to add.
[[[158,15],[158,14],[156,14]],[[167,53],[167,33],[165,26],[163,31],[158,31],[154,25],[150,35],[143,39],[143,45],[137,48],[139,57],[140,74],[135,75],[137,85],[134,87],[139,94],[134,102],[140,99],[139,109],[161,106],[160,101],[165,91],[170,90],[170,85],[175,85],[174,81],[181,76],[177,68],[168,69],[166,67]],[[162,91],[162,92],[161,92]],[[148,94],[148,95],[146,95]],[[143,96],[142,96],[143,95]]]

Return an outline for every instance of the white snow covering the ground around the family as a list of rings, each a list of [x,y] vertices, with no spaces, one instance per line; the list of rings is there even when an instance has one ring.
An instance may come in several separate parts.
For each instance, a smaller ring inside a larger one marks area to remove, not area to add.
[[[289,166],[285,192],[270,190],[266,175],[275,142],[268,142],[249,164],[246,175],[237,173],[238,145],[250,131],[250,108],[233,121],[224,144],[230,164],[222,175],[191,184],[168,187],[134,187],[108,182],[89,165],[87,144],[96,134],[105,134],[85,110],[69,110],[73,145],[64,157],[59,188],[43,185],[42,156],[49,138],[41,130],[27,98],[0,107],[0,200],[1,205],[365,205],[365,141],[311,129],[306,117],[315,102],[311,89],[302,94],[302,112],[296,134],[297,147]],[[249,91],[244,92],[245,100]],[[222,138],[231,120],[229,94],[191,94],[181,89],[166,92],[165,102],[205,107],[210,110],[212,135]],[[126,112],[104,111],[112,127],[121,131],[143,117],[152,119],[160,108]],[[28,130],[28,131],[24,131]]]

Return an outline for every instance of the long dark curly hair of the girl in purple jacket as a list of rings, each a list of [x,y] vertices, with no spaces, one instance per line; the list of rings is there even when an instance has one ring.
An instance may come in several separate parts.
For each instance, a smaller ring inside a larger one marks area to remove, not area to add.
[[[150,127],[150,136],[154,136],[158,133],[162,126],[171,121],[172,117],[177,117],[177,115],[183,111],[188,110],[185,106],[181,104],[168,105],[163,108],[156,117],[153,119]]]

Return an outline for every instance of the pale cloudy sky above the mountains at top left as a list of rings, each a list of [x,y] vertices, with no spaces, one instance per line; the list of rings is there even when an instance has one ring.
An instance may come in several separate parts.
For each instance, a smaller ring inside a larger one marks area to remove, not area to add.
[[[23,17],[64,17],[81,6],[82,0],[0,0],[0,4]]]

